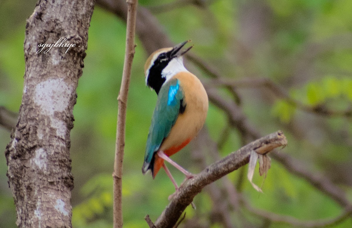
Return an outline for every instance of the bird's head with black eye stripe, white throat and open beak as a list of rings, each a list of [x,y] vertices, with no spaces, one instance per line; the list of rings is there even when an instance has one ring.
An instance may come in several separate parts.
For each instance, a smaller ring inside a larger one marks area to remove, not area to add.
[[[172,76],[178,72],[187,71],[183,66],[182,55],[193,46],[185,51],[181,51],[181,49],[189,41],[184,41],[175,47],[159,49],[153,52],[145,62],[145,84],[154,89],[157,94],[161,86]]]

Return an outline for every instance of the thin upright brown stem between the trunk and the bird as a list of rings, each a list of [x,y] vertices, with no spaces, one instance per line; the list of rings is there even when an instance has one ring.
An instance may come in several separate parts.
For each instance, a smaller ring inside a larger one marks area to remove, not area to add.
[[[122,228],[122,161],[125,148],[125,125],[128,86],[130,85],[131,68],[134,48],[134,33],[136,28],[137,0],[127,0],[126,52],[124,70],[122,72],[121,88],[118,96],[119,108],[117,115],[116,147],[114,162],[114,228]]]

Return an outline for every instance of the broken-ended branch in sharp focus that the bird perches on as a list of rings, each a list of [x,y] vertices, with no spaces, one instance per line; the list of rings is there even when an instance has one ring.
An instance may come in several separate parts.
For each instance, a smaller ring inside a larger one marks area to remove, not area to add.
[[[263,152],[266,148],[275,148],[287,145],[287,140],[281,131],[272,133],[231,153],[224,159],[214,162],[192,179],[186,180],[180,190],[175,194],[166,209],[154,223],[156,227],[173,227],[193,198],[201,192],[202,188],[233,172],[249,162],[252,150]],[[266,151],[268,153],[269,151]]]

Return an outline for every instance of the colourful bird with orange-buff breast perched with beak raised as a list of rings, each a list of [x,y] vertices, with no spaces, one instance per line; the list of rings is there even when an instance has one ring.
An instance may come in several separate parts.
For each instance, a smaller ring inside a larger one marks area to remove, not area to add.
[[[203,127],[208,112],[208,96],[201,81],[183,65],[182,47],[190,40],[174,47],[153,52],[144,65],[146,86],[157,94],[146,142],[142,173],[151,170],[153,179],[161,167],[179,189],[164,160],[186,175],[194,175],[169,156],[185,147]]]

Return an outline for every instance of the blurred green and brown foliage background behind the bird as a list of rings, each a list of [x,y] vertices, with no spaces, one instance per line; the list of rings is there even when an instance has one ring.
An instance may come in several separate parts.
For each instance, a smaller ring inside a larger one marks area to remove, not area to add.
[[[18,112],[21,103],[25,25],[35,6],[34,0],[0,2],[0,106],[12,112]],[[207,87],[217,84],[221,98],[237,105],[257,132],[266,135],[283,130],[289,144],[279,153],[300,161],[310,175],[325,176],[327,183],[341,189],[346,194],[343,197],[352,202],[352,1],[141,0],[139,7],[155,16],[175,44],[191,39],[190,53],[234,84],[232,89],[219,86],[223,81],[214,83],[201,67],[185,60]],[[95,6],[71,130],[73,227],[112,227],[117,96],[125,31],[123,20]],[[155,180],[141,172],[156,94],[145,86],[143,67],[148,54],[138,37],[136,43],[122,180],[127,228],[147,227],[146,214],[155,221],[174,192],[165,172]],[[2,151],[9,141],[9,130],[0,126]],[[202,167],[194,151],[202,148],[201,159],[210,164],[246,142],[243,132],[229,124],[226,113],[210,103],[201,136],[173,159],[197,173]],[[204,145],[215,145],[215,149],[209,151],[209,146],[207,151]],[[170,170],[181,183],[183,174],[173,167]],[[6,171],[2,155],[0,227],[12,228],[16,214]],[[352,227],[351,211],[342,216],[341,203],[275,159],[265,181],[258,172],[254,177],[264,194],[251,187],[246,173],[244,166],[205,188],[194,199],[197,209],[186,209],[180,227],[297,227],[275,222],[269,215],[300,221],[341,216],[333,227]],[[234,189],[241,200],[231,200],[234,196],[228,189]],[[219,208],[219,199],[223,208]]]

